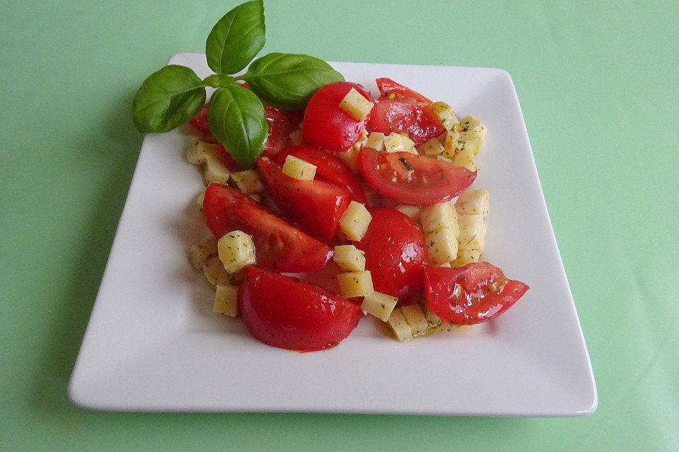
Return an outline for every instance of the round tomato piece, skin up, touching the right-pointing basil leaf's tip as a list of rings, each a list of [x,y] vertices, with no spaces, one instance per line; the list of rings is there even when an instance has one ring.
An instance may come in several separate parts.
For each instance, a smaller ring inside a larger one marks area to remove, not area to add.
[[[370,93],[357,83],[330,83],[314,93],[304,111],[304,141],[333,152],[346,151],[356,143],[361,132],[366,129],[368,118],[357,121],[340,108],[342,98],[352,88],[372,102]]]

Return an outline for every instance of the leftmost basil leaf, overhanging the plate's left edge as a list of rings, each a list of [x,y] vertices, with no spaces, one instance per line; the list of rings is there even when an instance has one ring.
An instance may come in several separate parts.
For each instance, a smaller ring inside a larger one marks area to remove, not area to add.
[[[172,64],[146,78],[134,97],[132,120],[141,133],[163,133],[185,124],[205,103],[194,71]]]

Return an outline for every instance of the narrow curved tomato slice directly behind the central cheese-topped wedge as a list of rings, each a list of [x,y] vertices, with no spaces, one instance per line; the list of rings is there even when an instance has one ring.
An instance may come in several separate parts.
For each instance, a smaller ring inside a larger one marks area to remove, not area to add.
[[[285,157],[294,155],[305,162],[316,166],[316,176],[322,177],[327,182],[332,182],[339,187],[346,188],[352,194],[352,199],[361,204],[366,203],[366,194],[361,188],[361,182],[356,179],[351,169],[344,165],[342,160],[326,153],[324,150],[313,148],[312,146],[293,146],[285,148],[274,158],[276,162],[283,165]]]

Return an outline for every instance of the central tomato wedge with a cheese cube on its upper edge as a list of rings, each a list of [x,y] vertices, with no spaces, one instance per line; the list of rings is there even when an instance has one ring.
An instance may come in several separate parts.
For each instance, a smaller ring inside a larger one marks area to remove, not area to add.
[[[318,179],[294,179],[266,158],[257,157],[257,168],[269,195],[284,215],[323,242],[335,237],[344,210],[352,201],[349,191]]]

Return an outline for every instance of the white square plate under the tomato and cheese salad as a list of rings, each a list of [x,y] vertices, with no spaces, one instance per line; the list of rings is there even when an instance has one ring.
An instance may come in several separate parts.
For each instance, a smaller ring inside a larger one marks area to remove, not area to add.
[[[177,54],[201,77],[201,54]],[[71,377],[102,410],[304,411],[575,416],[596,409],[591,364],[542,196],[516,91],[499,69],[332,63],[376,92],[393,78],[488,127],[474,185],[491,194],[484,259],[530,290],[466,333],[397,343],[371,319],[338,347],[279,350],[211,312],[187,263],[206,230],[192,137],[148,135]],[[194,138],[195,139],[195,138]]]

